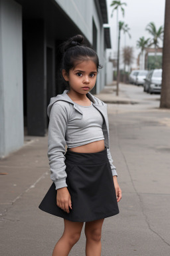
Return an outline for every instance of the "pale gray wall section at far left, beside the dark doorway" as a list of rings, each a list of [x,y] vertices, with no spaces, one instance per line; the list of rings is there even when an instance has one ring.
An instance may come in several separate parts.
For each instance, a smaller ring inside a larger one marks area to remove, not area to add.
[[[22,8],[0,0],[0,157],[23,145]]]

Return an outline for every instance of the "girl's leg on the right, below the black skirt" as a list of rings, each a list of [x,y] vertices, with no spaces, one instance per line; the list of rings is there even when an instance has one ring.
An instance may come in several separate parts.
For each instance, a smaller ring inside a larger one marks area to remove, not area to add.
[[[101,255],[101,234],[103,222],[104,219],[86,222],[84,229],[86,235],[86,256]]]

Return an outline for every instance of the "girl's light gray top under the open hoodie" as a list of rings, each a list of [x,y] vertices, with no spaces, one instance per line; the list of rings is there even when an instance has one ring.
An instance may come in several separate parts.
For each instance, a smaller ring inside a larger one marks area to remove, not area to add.
[[[90,106],[75,104],[81,108],[83,115],[82,119],[76,119],[73,113],[70,116],[66,129],[66,145],[68,147],[79,147],[104,139],[102,131],[104,120],[92,101]]]

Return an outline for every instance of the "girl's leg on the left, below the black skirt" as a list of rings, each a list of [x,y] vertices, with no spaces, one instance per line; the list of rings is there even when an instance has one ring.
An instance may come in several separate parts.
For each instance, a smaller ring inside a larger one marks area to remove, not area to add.
[[[64,219],[64,232],[54,247],[52,256],[68,256],[70,249],[80,239],[83,222]]]

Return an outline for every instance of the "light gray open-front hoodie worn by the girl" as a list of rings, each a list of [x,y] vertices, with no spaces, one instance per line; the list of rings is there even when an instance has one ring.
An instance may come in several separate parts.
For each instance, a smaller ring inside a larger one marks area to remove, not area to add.
[[[82,111],[70,99],[66,94],[68,90],[64,90],[62,94],[52,97],[50,99],[50,104],[47,108],[47,115],[50,119],[48,126],[48,159],[50,165],[50,178],[55,183],[56,189],[61,187],[67,187],[66,185],[66,165],[64,163],[66,157],[65,154],[65,133],[67,128],[67,123],[70,117],[70,113],[74,111],[75,115],[81,117]],[[112,175],[118,176],[116,173],[116,167],[113,165],[113,159],[110,154],[110,137],[109,137],[109,123],[108,123],[108,113],[107,104],[94,97],[91,93],[87,93],[86,96],[92,101],[94,107],[100,111],[104,117],[103,123],[103,133],[104,133],[104,144],[107,148],[108,160],[110,162],[110,167],[112,169]]]

